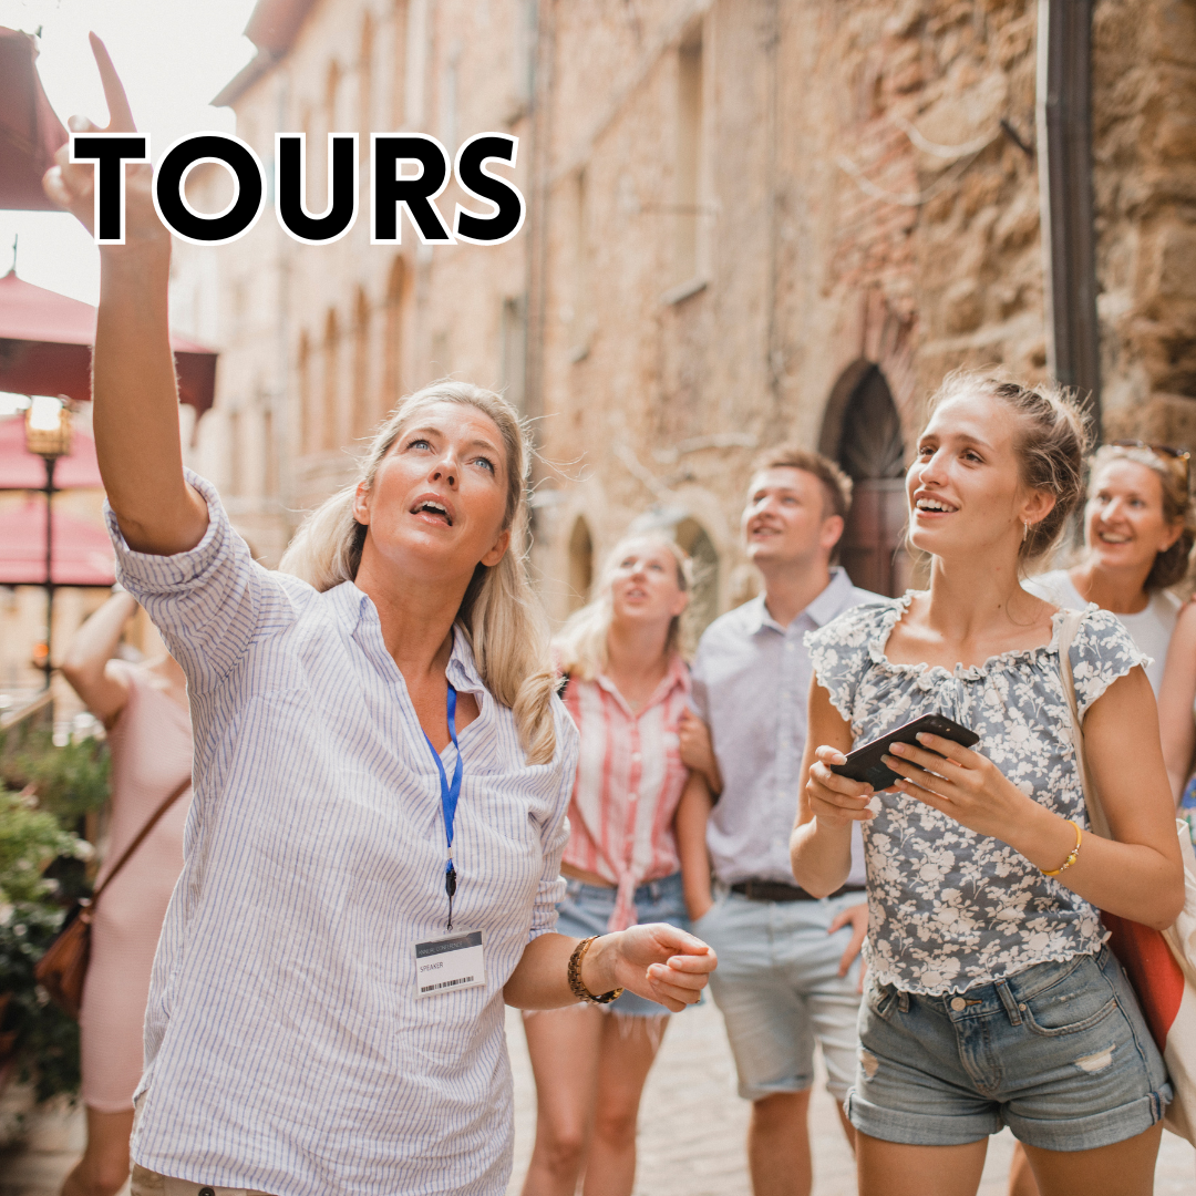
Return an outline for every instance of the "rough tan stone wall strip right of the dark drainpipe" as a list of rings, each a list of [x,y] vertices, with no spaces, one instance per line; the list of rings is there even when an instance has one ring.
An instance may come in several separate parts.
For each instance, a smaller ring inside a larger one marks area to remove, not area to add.
[[[1196,448],[1196,4],[1100,0],[1093,74],[1106,433]]]

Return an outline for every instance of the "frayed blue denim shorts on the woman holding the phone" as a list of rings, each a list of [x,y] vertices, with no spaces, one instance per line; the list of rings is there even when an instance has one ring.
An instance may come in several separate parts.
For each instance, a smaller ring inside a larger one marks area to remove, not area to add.
[[[866,984],[847,1112],[871,1137],[962,1146],[1008,1125],[1045,1151],[1091,1151],[1149,1129],[1171,1098],[1107,947],[945,996]]]

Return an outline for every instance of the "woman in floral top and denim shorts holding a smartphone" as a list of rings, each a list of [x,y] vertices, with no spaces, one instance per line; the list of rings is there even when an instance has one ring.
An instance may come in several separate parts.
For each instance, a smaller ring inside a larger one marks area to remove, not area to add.
[[[1009,1125],[1044,1196],[1148,1196],[1171,1087],[1099,909],[1155,927],[1183,865],[1143,655],[1088,606],[1069,659],[1116,841],[1087,831],[1062,612],[1021,580],[1082,494],[1084,429],[1046,388],[950,376],[907,475],[925,592],[841,615],[814,665],[793,869],[830,892],[864,822],[871,923],[848,1094],[865,1196],[972,1196]],[[831,771],[928,713],[977,750],[895,745],[881,794]]]

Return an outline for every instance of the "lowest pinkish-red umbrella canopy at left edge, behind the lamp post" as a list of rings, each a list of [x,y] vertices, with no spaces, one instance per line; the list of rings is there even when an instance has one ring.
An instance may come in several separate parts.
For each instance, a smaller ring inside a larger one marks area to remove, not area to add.
[[[54,512],[54,584],[110,586],[112,544],[98,524]],[[0,511],[0,586],[45,585],[45,500]]]

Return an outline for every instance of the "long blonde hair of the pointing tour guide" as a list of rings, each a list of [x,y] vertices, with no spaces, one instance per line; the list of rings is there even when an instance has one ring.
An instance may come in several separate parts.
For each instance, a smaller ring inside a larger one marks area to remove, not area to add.
[[[469,640],[482,683],[509,707],[527,762],[543,764],[556,751],[553,721],[554,672],[548,622],[525,569],[527,543],[526,477],[530,448],[514,408],[494,391],[462,382],[435,382],[408,395],[378,429],[361,462],[358,481],[338,490],[303,521],[279,569],[319,591],[353,581],[361,563],[366,526],[353,514],[358,486],[373,486],[383,458],[399,433],[433,403],[472,407],[494,421],[507,466],[504,530],[511,548],[494,567],[478,563],[457,611],[454,627]]]

